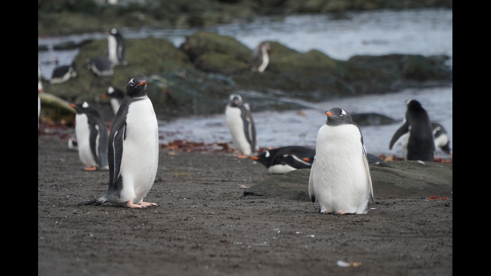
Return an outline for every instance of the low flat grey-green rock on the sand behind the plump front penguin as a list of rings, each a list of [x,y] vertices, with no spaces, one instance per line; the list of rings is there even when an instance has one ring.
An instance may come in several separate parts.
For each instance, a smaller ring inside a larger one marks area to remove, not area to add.
[[[370,165],[374,199],[452,197],[453,165],[393,161]],[[244,191],[244,196],[310,201],[310,169],[272,175]]]

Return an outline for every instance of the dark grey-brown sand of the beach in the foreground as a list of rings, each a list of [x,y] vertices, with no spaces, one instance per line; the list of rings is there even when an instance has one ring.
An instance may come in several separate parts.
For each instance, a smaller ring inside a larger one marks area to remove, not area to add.
[[[253,160],[161,149],[145,198],[159,206],[79,206],[109,176],[84,171],[67,139],[38,134],[38,275],[453,273],[452,198],[375,190],[366,215],[320,214],[318,203],[243,196],[269,177]]]

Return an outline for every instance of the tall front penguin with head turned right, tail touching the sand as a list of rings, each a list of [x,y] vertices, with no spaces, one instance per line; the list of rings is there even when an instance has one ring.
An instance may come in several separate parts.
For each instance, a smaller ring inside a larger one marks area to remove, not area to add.
[[[133,78],[109,134],[108,189],[100,197],[80,204],[109,202],[130,208],[157,205],[144,202],[143,198],[155,181],[158,152],[157,118],[147,96],[147,81]]]

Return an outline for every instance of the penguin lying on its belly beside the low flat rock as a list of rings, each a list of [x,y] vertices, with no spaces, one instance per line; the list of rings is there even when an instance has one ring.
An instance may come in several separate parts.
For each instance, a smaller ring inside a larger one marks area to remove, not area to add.
[[[310,169],[315,155],[315,149],[286,146],[267,150],[251,159],[265,165],[271,174],[285,174],[296,169]]]

